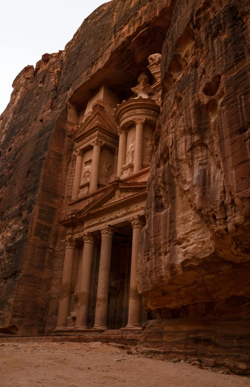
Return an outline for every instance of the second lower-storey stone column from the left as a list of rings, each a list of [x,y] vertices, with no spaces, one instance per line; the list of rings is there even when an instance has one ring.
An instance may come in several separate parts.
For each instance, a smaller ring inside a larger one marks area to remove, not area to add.
[[[86,233],[83,235],[83,261],[77,303],[75,329],[88,329],[88,305],[94,241],[95,240],[90,233]]]

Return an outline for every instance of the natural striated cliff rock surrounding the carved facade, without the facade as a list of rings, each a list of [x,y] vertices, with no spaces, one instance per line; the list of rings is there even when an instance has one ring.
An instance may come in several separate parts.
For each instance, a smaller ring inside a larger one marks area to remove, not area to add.
[[[100,83],[127,95],[162,52],[139,351],[250,365],[248,13],[248,0],[112,0],[17,76],[0,116],[0,332],[55,328],[79,114]]]

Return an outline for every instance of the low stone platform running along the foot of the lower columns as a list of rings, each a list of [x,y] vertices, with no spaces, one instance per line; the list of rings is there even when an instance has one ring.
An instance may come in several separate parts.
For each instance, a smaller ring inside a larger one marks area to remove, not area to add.
[[[84,332],[58,332],[45,336],[19,336],[15,334],[0,334],[0,343],[117,343],[125,345],[136,345],[140,337],[140,332],[122,332],[120,330],[109,330],[103,333]]]

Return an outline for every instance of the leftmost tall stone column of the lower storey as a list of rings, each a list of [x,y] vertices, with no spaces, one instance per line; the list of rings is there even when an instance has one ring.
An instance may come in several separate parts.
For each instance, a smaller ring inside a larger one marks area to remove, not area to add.
[[[66,329],[76,241],[65,240],[66,250],[56,329]]]

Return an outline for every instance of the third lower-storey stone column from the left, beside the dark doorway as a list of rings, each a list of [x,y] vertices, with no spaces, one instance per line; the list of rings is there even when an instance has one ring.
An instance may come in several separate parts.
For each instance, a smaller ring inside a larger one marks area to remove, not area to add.
[[[114,232],[115,229],[109,226],[101,230],[100,265],[94,329],[107,329],[109,273]]]

